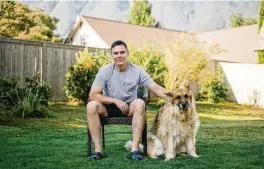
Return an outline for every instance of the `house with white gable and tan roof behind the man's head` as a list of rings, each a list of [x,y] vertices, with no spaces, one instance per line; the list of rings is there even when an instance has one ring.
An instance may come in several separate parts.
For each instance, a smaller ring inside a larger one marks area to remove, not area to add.
[[[112,42],[123,40],[135,47],[142,47],[145,42],[150,42],[162,50],[179,33],[181,32],[79,16],[64,43],[109,49]]]

